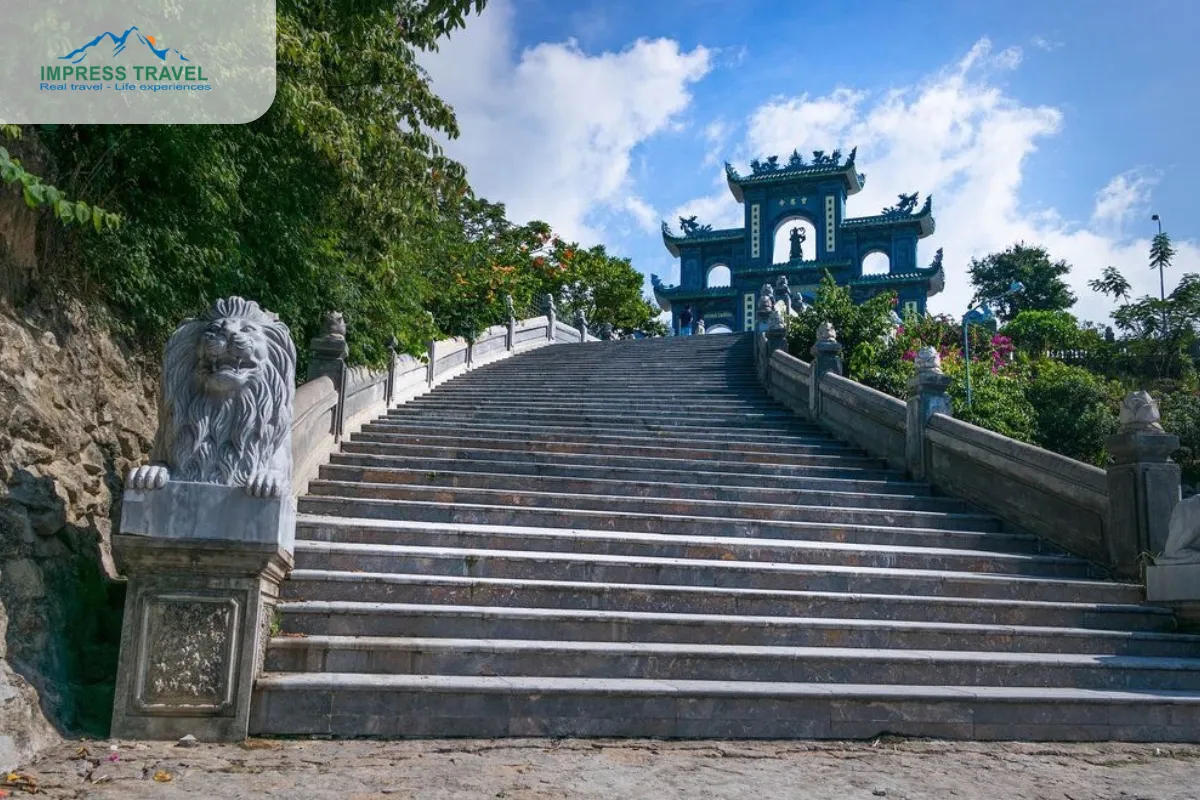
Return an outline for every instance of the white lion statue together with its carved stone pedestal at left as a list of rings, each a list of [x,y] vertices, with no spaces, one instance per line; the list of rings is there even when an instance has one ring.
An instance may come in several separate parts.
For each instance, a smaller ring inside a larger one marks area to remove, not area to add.
[[[344,327],[326,329],[344,345]],[[246,736],[292,566],[295,360],[287,326],[241,297],[167,343],[151,463],[130,474],[113,537],[130,579],[114,736]]]

